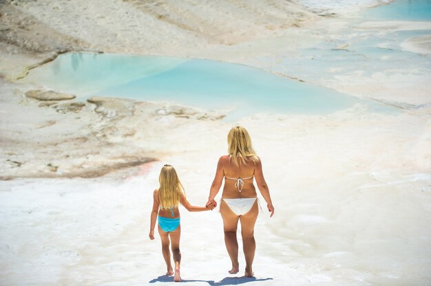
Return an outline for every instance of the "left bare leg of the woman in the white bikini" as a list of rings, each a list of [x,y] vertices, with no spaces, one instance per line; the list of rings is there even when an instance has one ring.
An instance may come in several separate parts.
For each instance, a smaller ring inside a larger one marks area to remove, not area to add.
[[[220,213],[223,219],[224,243],[232,261],[232,269],[229,270],[229,273],[235,274],[240,271],[240,264],[238,263],[238,240],[236,239],[236,230],[240,217],[223,200],[220,203]]]

